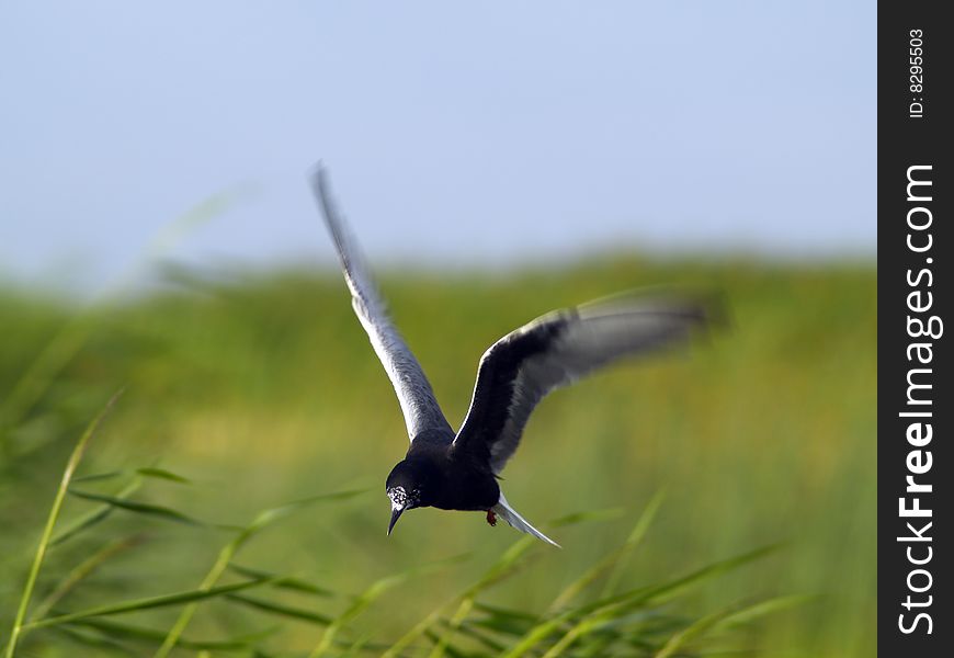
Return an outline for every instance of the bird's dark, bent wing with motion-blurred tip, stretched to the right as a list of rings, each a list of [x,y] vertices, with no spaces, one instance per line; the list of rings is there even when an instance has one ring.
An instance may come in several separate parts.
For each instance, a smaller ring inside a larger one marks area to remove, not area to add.
[[[685,339],[708,317],[697,302],[612,298],[557,310],[508,333],[480,360],[454,450],[500,473],[543,397],[622,356]]]

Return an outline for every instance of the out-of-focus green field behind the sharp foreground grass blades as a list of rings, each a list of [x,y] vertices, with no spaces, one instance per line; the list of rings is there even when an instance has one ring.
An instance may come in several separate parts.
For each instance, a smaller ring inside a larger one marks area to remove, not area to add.
[[[665,491],[620,572],[621,590],[783,542],[681,599],[680,614],[808,594],[747,627],[732,646],[764,656],[874,655],[873,262],[621,254],[498,275],[394,270],[382,272],[381,282],[455,426],[482,351],[542,313],[644,285],[722,293],[727,327],[685,351],[613,367],[538,407],[503,487],[564,548],[534,546],[526,567],[486,601],[545,611],[622,544],[648,501]],[[288,500],[370,489],[282,520],[249,543],[241,564],[356,593],[389,574],[468,555],[389,589],[354,621],[359,636],[398,637],[519,538],[480,514],[436,510],[408,514],[385,536],[384,478],[407,439],[336,271],[171,269],[148,294],[92,305],[8,286],[0,318],[3,639],[68,453],[123,386],[78,476],[158,465],[191,484],[151,478],[137,500],[229,524]],[[121,486],[116,478],[82,484],[107,494]],[[61,523],[88,509],[88,501],[68,497]],[[548,526],[568,513],[604,509],[617,511],[601,522]],[[36,597],[104,541],[140,526],[141,545],[91,574],[63,599],[65,610],[195,588],[228,538],[215,527],[116,510],[90,536],[50,549]],[[168,629],[178,613],[137,614]],[[234,629],[242,625],[236,614],[227,602],[211,601],[190,631]],[[265,646],[307,653],[319,635],[293,621]],[[33,644],[24,655],[72,655],[82,646],[46,632],[25,642]]]

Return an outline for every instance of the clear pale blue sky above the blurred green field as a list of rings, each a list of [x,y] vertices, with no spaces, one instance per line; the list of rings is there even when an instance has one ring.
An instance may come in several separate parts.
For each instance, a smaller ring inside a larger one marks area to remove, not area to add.
[[[0,3],[0,281],[163,258],[874,258],[876,5]],[[205,207],[205,206],[203,206]]]

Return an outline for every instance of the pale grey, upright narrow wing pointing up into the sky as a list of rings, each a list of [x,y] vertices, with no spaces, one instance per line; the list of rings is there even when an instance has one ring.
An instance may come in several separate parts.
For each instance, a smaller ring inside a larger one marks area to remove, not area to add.
[[[331,197],[328,174],[323,167],[319,166],[315,170],[313,184],[325,224],[331,232],[341,260],[344,281],[351,291],[351,305],[394,385],[405,415],[408,436],[413,441],[414,436],[425,430],[441,430],[442,433],[453,435],[421,365],[387,316],[374,280],[364,266],[357,245]]]

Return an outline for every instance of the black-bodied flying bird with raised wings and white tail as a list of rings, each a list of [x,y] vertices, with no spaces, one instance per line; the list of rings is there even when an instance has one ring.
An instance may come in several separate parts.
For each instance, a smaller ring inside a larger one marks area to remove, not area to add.
[[[410,446],[387,476],[390,535],[411,509],[478,511],[559,547],[503,496],[501,472],[545,395],[625,356],[685,342],[712,319],[702,298],[623,293],[543,315],[490,345],[480,359],[467,415],[455,432],[414,354],[390,320],[357,242],[319,163],[311,186],[351,293],[351,304],[384,365]]]

